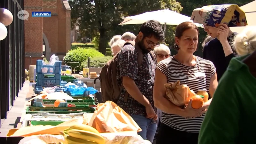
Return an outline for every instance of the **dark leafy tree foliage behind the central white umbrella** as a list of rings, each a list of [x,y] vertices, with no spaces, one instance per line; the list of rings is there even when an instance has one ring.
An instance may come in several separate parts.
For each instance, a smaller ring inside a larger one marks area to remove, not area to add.
[[[175,0],[69,0],[71,25],[79,25],[82,36],[99,36],[99,52],[105,54],[106,46],[114,35],[126,31],[138,33],[140,25],[118,25],[122,18],[148,11],[170,9],[180,12],[182,7]],[[167,26],[166,41],[173,39],[172,26]],[[98,35],[98,33],[100,35]]]

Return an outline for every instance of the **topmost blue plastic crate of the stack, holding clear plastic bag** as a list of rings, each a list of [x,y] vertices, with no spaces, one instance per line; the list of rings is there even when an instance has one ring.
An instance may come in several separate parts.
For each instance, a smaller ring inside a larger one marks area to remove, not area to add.
[[[42,68],[47,68],[47,73],[42,72]],[[44,65],[43,60],[36,60],[37,74],[61,74],[61,61],[56,61],[53,66]]]

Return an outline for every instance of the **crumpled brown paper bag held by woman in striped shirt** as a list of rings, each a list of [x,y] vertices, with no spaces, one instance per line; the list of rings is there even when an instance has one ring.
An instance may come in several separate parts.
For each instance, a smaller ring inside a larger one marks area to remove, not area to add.
[[[164,84],[168,100],[177,106],[184,106],[195,94],[186,84],[180,84],[180,80],[175,83]]]

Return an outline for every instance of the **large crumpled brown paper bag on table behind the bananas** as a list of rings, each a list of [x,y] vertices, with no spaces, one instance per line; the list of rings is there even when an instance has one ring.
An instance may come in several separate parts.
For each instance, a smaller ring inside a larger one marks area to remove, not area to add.
[[[112,101],[98,104],[88,125],[100,133],[142,131],[132,117]]]

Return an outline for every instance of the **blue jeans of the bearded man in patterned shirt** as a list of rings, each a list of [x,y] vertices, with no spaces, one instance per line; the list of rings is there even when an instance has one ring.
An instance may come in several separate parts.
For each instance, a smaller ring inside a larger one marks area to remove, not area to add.
[[[153,143],[156,134],[156,124],[153,124],[153,119],[146,118],[145,116],[131,115],[134,121],[142,129],[138,134],[144,139]]]

